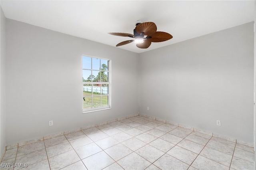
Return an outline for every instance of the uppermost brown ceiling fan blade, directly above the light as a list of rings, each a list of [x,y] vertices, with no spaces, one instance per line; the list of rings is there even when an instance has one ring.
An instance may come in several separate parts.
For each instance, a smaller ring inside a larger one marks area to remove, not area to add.
[[[144,35],[151,36],[156,33],[156,24],[154,22],[143,22],[138,24],[135,28],[138,34],[144,32]]]

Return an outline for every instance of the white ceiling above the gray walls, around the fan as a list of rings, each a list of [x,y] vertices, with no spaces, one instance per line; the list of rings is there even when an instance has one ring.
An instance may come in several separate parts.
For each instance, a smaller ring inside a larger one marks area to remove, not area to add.
[[[1,0],[6,18],[116,46],[132,40],[108,32],[133,34],[135,22],[154,22],[173,38],[140,49],[134,43],[117,48],[141,53],[254,21],[254,0],[222,1],[88,1]]]

